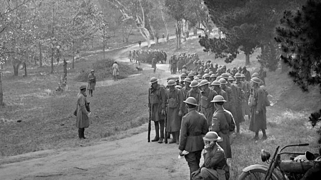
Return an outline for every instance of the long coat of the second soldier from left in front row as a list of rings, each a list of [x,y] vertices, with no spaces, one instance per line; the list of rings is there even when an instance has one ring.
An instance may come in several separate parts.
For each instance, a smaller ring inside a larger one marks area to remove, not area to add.
[[[180,89],[174,88],[174,90],[167,90],[167,121],[166,131],[176,132],[180,130],[182,117],[178,115],[179,110],[183,112],[184,95]],[[177,105],[175,108],[169,107],[169,101],[175,102]]]

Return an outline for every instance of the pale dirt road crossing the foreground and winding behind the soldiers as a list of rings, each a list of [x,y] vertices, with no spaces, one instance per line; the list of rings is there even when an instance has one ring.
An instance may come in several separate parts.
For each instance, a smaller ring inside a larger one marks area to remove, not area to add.
[[[138,49],[137,46],[118,51],[115,59],[130,63],[127,52]],[[141,67],[147,69],[151,65]],[[170,76],[168,64],[157,64],[157,68],[157,75],[164,83]],[[109,80],[97,86],[121,82]],[[152,123],[151,138],[155,136],[153,129]],[[147,143],[147,132],[144,132],[93,146],[83,143],[77,149],[37,151],[0,159],[0,179],[189,179],[185,159],[177,157],[177,144]]]

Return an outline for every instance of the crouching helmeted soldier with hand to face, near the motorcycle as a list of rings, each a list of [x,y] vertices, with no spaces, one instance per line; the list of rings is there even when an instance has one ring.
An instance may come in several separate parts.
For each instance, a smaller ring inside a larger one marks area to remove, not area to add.
[[[224,150],[217,144],[221,137],[216,132],[210,131],[206,133],[203,140],[205,144],[204,164],[191,174],[192,180],[228,180],[230,167],[226,163]]]

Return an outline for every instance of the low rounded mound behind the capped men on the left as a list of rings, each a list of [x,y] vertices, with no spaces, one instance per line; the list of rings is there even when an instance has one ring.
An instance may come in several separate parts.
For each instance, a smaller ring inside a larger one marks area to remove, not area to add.
[[[95,70],[97,81],[100,81],[105,78],[112,78],[112,66],[114,61],[115,59],[111,58],[95,61],[92,63],[90,67],[82,68],[79,72],[79,75],[76,77],[76,80],[79,82],[87,82],[88,74],[92,69]],[[118,67],[120,71],[118,79],[123,79],[129,75],[138,73],[135,67],[128,63],[118,62]]]

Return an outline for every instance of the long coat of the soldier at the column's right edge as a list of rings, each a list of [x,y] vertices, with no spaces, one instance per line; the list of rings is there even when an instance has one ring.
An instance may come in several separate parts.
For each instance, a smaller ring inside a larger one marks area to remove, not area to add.
[[[251,108],[251,121],[249,130],[258,132],[260,129],[266,129],[266,107],[265,92],[262,88],[252,88],[256,105]],[[259,111],[259,114],[256,114]]]

